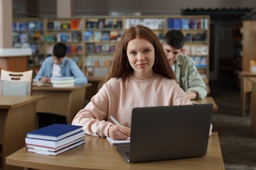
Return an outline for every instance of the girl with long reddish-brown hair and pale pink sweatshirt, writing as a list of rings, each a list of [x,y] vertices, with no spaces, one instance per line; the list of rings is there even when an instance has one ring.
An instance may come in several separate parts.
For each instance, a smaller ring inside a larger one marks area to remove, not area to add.
[[[192,105],[177,84],[158,37],[142,25],[130,27],[117,42],[105,81],[72,122],[89,135],[127,139],[134,107]],[[110,115],[122,126],[108,121]]]

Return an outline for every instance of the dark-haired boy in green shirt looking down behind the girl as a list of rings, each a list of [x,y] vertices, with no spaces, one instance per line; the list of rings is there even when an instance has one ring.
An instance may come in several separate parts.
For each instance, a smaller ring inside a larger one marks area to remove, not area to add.
[[[202,76],[194,65],[192,58],[182,55],[182,47],[185,37],[181,30],[172,29],[165,34],[163,39],[163,49],[169,60],[177,82],[192,99],[203,99],[207,95],[207,88]]]

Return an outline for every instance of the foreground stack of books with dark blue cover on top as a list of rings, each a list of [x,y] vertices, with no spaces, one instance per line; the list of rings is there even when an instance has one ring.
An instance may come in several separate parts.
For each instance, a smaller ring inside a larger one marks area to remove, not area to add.
[[[52,124],[26,134],[26,150],[56,156],[85,143],[82,126]]]

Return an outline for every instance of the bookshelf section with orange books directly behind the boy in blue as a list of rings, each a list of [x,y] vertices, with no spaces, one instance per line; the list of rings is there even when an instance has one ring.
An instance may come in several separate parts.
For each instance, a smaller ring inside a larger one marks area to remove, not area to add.
[[[45,20],[45,56],[51,56],[56,42],[64,42],[68,47],[68,58],[83,69],[84,46],[82,18],[47,18]]]

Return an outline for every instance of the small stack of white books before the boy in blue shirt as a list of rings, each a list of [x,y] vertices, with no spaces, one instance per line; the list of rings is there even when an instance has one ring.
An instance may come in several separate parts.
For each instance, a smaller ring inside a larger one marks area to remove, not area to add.
[[[73,87],[75,78],[73,76],[51,77],[51,83],[54,88]]]

